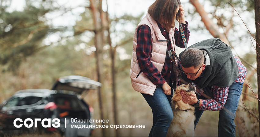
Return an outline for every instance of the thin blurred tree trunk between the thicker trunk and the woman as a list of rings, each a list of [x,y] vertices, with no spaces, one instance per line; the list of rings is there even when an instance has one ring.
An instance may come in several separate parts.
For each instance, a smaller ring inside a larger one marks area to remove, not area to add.
[[[107,11],[106,11],[106,20],[108,23],[107,26],[107,32],[108,32],[108,37],[107,37],[107,41],[108,44],[110,45],[110,56],[111,56],[111,60],[112,60],[112,65],[111,65],[111,74],[112,74],[112,93],[113,93],[113,99],[112,99],[112,104],[113,104],[113,115],[114,115],[114,124],[115,125],[119,125],[118,124],[118,119],[117,119],[117,91],[116,91],[116,73],[115,73],[115,49],[113,49],[112,47],[112,43],[111,43],[111,38],[110,38],[110,20],[109,20],[109,16],[108,16],[108,5],[107,5],[107,1],[106,1],[106,7],[107,7]],[[116,129],[116,137],[119,136],[119,128]]]

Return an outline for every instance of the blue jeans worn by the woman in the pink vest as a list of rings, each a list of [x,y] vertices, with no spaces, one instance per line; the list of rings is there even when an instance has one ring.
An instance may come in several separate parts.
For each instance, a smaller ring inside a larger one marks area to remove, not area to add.
[[[141,94],[153,112],[153,126],[149,137],[165,137],[173,120],[173,111],[170,105],[171,95],[165,95],[161,87],[156,88],[154,96]]]

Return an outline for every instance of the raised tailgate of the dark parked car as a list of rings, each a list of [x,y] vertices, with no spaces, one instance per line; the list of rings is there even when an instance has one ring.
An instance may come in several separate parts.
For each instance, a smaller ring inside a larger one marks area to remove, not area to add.
[[[78,94],[85,90],[97,89],[102,84],[83,76],[64,76],[60,77],[51,90],[67,90]]]

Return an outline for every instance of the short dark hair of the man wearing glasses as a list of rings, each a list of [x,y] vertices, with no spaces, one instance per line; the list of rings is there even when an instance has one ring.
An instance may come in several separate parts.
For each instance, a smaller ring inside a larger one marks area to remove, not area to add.
[[[190,48],[181,56],[181,65],[184,68],[194,67],[199,68],[204,62],[204,54],[197,48]]]

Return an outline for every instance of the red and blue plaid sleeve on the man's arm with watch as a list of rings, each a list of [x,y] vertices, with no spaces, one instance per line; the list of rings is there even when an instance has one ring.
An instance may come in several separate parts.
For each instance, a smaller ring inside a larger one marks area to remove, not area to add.
[[[211,93],[214,99],[201,100],[202,105],[199,109],[209,111],[219,111],[225,106],[228,97],[228,87],[212,86]]]

